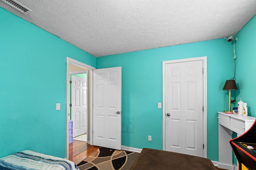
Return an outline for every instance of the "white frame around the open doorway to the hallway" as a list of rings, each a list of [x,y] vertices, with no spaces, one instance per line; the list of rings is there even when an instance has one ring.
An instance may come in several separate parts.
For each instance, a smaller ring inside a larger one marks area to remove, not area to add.
[[[71,59],[69,57],[66,57],[66,65],[67,65],[67,70],[66,70],[66,158],[68,158],[68,120],[69,120],[69,115],[68,113],[70,112],[70,108],[69,108],[69,103],[70,103],[70,84],[69,84],[69,63],[80,66],[82,68],[86,68],[88,70],[90,70],[90,72],[88,72],[88,74],[90,74],[90,79],[88,84],[90,83],[90,96],[89,99],[91,100],[90,102],[90,141],[88,141],[87,143],[90,143],[92,145],[92,76],[93,76],[93,70],[95,69],[92,66],[89,66],[87,64],[81,63],[79,61],[76,61],[74,59]]]

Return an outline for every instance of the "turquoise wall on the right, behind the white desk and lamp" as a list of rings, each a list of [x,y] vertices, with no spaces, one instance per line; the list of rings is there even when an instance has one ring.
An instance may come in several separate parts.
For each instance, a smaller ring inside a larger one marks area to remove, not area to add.
[[[236,35],[236,83],[238,83],[238,98],[247,102],[248,115],[256,117],[256,16]],[[237,99],[238,101],[238,99]]]

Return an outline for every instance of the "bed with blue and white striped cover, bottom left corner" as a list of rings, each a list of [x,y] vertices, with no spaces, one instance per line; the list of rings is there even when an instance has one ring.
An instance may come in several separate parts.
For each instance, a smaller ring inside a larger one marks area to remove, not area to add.
[[[0,169],[4,170],[79,170],[70,160],[23,150],[0,158]]]

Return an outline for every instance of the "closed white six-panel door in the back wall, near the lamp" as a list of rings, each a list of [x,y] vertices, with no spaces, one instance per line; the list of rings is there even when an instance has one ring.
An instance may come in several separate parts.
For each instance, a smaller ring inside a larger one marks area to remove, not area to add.
[[[166,150],[203,157],[203,61],[165,68]]]

